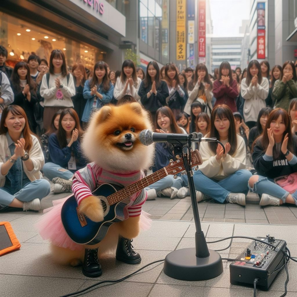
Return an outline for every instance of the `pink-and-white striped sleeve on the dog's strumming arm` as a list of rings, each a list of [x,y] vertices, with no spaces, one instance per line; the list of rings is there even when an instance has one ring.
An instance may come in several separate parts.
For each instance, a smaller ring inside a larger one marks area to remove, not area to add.
[[[92,195],[97,187],[97,175],[100,168],[98,168],[94,163],[88,164],[86,167],[78,170],[74,174],[72,182],[72,192],[74,197],[80,205],[80,202]]]

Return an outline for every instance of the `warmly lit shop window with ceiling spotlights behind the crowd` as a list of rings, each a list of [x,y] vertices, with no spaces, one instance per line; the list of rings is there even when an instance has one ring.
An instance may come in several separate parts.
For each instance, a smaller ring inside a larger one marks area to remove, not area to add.
[[[4,13],[0,14],[0,27],[0,44],[7,48],[7,63],[12,67],[18,61],[27,60],[31,53],[49,62],[53,49],[64,51],[70,70],[75,63],[83,63],[86,68],[92,69],[95,62],[105,58],[103,50]]]

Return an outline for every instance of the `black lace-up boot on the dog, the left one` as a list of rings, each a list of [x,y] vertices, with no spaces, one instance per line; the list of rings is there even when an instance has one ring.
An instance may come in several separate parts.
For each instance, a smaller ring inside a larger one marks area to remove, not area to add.
[[[83,259],[81,271],[86,277],[99,277],[102,274],[101,265],[98,260],[98,248],[85,249],[85,258]]]

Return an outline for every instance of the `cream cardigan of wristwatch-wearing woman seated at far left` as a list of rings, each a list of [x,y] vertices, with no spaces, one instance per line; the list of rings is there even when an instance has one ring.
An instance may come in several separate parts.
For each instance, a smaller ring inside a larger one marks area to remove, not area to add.
[[[32,171],[29,171],[26,167],[26,164],[23,162],[23,169],[30,179],[30,181],[35,181],[37,179],[42,178],[42,174],[40,170],[44,165],[44,155],[40,146],[40,143],[36,136],[31,135],[32,137],[32,147],[30,151],[28,151],[29,157],[33,162],[34,168]],[[5,175],[1,174],[2,165],[9,160],[11,157],[10,150],[8,147],[8,142],[6,138],[6,134],[0,135],[0,187],[3,187],[5,184]]]

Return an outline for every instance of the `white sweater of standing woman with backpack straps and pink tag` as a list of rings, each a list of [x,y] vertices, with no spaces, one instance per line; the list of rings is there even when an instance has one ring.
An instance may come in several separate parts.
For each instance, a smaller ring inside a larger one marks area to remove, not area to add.
[[[55,85],[55,79],[59,78],[63,88],[60,88],[63,98],[59,99],[56,97],[56,93],[59,90]],[[47,83],[46,75],[43,75],[40,95],[44,98],[44,106],[62,106],[62,107],[73,107],[73,102],[71,97],[75,95],[75,85],[73,81],[72,74],[69,75],[69,82],[67,85],[67,77],[61,77],[61,73],[50,74],[50,80]]]

